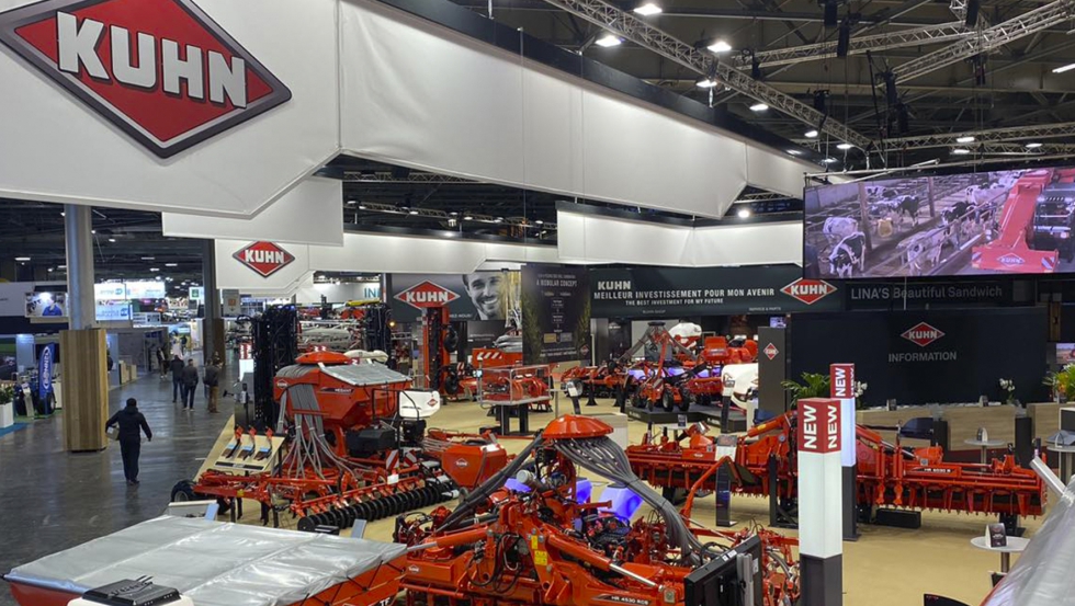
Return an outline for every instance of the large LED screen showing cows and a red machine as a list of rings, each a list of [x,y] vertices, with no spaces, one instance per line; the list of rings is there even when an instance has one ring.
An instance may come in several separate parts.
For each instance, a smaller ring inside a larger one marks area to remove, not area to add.
[[[804,265],[823,278],[1075,271],[1075,168],[807,188]]]

